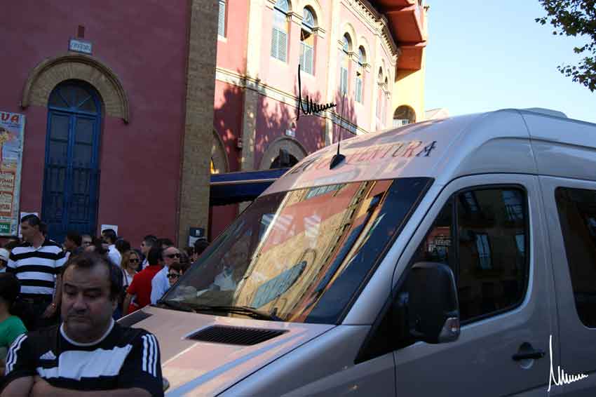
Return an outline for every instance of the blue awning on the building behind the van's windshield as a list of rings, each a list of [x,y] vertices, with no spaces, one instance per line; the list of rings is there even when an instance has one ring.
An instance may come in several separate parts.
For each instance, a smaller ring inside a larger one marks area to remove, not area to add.
[[[245,173],[212,174],[209,205],[226,206],[252,201],[289,169],[275,168]]]

